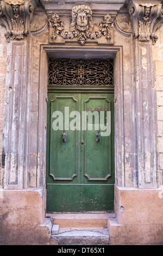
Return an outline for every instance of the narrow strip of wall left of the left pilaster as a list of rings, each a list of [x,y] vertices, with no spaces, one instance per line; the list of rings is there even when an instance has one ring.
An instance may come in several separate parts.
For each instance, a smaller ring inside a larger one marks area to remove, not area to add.
[[[3,142],[3,126],[5,119],[5,74],[7,71],[7,41],[4,37],[6,29],[0,25],[0,188],[4,183],[4,169],[2,168],[2,142]],[[7,103],[7,102],[6,102]]]

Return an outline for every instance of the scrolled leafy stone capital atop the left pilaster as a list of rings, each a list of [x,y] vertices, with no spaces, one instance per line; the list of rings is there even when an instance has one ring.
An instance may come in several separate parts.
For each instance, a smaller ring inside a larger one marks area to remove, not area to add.
[[[31,2],[5,0],[0,2],[0,24],[7,28],[7,41],[24,39],[28,35],[30,16],[33,13]]]

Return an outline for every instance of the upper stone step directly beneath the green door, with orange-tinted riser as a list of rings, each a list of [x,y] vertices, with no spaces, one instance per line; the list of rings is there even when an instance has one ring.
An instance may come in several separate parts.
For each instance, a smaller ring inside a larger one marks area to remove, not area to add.
[[[71,227],[107,227],[108,218],[114,217],[114,214],[47,214],[46,217],[53,218],[53,224],[60,228]]]

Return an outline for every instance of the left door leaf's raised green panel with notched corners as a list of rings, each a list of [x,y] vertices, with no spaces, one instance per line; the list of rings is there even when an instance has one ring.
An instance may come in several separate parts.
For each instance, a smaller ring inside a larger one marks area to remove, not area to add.
[[[65,111],[65,107],[68,107],[68,111]],[[75,99],[74,96],[55,96],[51,100],[49,170],[54,180],[77,178],[78,131],[66,131],[66,142],[62,142],[63,130],[67,129],[65,127],[65,115],[69,111],[78,111],[78,97]],[[57,129],[57,126],[60,126],[60,130],[54,130]]]

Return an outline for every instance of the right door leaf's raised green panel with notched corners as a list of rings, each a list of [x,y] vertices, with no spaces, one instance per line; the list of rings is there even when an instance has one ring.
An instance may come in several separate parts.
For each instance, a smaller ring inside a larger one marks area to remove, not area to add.
[[[106,128],[108,129],[110,125],[110,118],[108,118],[109,123],[106,123],[106,111],[111,111],[110,105],[111,101],[108,100],[107,97],[92,97],[91,94],[82,95],[82,108],[84,111],[87,111],[87,113],[90,113],[90,116],[92,113],[93,119],[92,130],[89,130],[90,124],[89,118],[87,117],[86,130],[84,131],[83,166],[84,176],[87,177],[89,181],[107,180],[111,175],[111,135],[100,136],[99,142],[97,143],[96,141],[97,131],[99,130],[99,135],[101,135],[102,131],[104,132],[104,129],[106,131]]]

